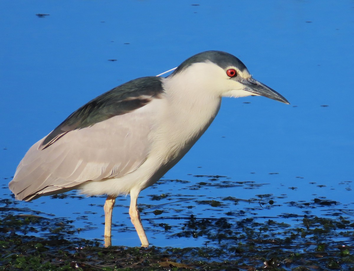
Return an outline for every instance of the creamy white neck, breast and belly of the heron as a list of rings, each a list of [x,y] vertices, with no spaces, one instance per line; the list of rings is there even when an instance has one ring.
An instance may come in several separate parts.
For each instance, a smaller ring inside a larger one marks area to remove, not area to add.
[[[215,118],[221,97],[208,90],[200,93],[193,82],[181,74],[164,79],[167,90],[160,99],[137,109],[145,111],[151,121],[149,154],[133,172],[118,179],[86,182],[82,186],[85,194],[128,194],[131,190],[143,190],[154,184],[194,145]],[[190,78],[195,80],[195,78]],[[201,95],[202,94],[202,95]]]

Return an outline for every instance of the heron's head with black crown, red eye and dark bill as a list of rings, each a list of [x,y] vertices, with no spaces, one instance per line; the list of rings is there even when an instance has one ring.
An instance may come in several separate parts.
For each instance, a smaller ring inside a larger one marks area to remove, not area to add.
[[[210,92],[219,97],[260,95],[289,103],[278,92],[255,80],[244,63],[226,52],[198,53],[182,62],[169,78],[187,83],[195,91]]]

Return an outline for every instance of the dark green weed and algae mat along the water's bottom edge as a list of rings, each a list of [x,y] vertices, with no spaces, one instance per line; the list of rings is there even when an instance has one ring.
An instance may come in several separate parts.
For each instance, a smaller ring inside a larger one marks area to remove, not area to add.
[[[354,222],[342,216],[306,216],[292,228],[273,219],[190,215],[169,238],[203,236],[204,247],[104,248],[72,237],[72,221],[12,214],[15,205],[7,200],[1,208],[0,270],[354,270]]]

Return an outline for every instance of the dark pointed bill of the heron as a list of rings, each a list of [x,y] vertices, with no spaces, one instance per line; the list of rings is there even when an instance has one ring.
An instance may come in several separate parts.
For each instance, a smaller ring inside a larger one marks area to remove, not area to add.
[[[283,103],[287,103],[290,105],[290,103],[278,92],[276,92],[274,89],[271,89],[270,87],[262,84],[261,82],[253,79],[252,77],[249,79],[243,79],[241,81],[242,84],[244,84],[244,90],[267,97],[271,98],[276,101],[280,101]]]

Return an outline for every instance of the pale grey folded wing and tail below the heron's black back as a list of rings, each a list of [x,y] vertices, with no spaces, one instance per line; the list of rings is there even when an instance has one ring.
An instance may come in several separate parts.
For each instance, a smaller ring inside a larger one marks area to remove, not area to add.
[[[10,189],[16,198],[31,200],[74,189],[86,181],[130,173],[148,156],[157,107],[153,99],[129,113],[65,132],[46,148],[42,148],[44,137],[25,154]]]

